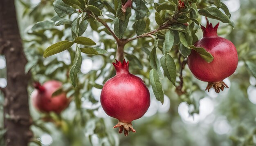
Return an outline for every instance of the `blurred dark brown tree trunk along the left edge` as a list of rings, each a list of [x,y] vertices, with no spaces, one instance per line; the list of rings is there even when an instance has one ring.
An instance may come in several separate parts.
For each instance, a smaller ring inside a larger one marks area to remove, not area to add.
[[[14,0],[0,0],[0,53],[7,64],[7,86],[4,91],[4,126],[7,146],[27,146],[33,136],[29,114],[25,58],[17,24]]]

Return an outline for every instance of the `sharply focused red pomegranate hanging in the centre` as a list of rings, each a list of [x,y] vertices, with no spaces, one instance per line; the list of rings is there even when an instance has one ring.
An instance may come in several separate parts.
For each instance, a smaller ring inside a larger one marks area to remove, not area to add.
[[[109,79],[101,91],[101,105],[110,116],[119,120],[114,128],[119,127],[119,133],[124,130],[136,132],[132,121],[142,117],[150,105],[150,94],[143,80],[129,73],[129,62],[113,63],[117,71],[115,77]]]

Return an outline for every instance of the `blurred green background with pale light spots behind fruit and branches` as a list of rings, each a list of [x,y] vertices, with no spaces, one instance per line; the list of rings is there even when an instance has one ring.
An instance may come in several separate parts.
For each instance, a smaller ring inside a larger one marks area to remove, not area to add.
[[[146,0],[148,3],[153,1]],[[66,76],[74,58],[74,49],[69,49],[43,59],[43,52],[49,45],[70,37],[70,28],[65,25],[55,27],[59,20],[52,7],[52,0],[16,0],[16,11],[20,34],[23,40],[28,64],[25,70],[31,72],[32,80],[41,83],[55,79],[63,83],[70,82]],[[154,2],[159,2],[154,0]],[[36,146],[256,146],[256,78],[251,71],[256,70],[250,64],[256,64],[256,1],[255,0],[222,0],[231,13],[235,29],[227,24],[220,24],[218,34],[236,45],[238,51],[238,68],[234,75],[225,79],[229,88],[221,93],[212,89],[204,91],[206,82],[201,82],[185,67],[184,88],[191,95],[178,97],[174,86],[162,80],[164,104],[155,99],[152,87],[149,87],[151,105],[144,117],[132,122],[136,133],[128,137],[118,134],[112,127],[118,122],[103,111],[99,102],[101,89],[95,88],[91,82],[103,85],[115,71],[112,60],[115,56],[115,41],[106,35],[105,27],[97,22],[90,22],[83,34],[93,38],[94,42],[109,53],[102,56],[82,54],[81,72],[78,74],[79,87],[68,92],[79,94],[79,101],[74,100],[60,117],[51,113],[55,122],[46,122],[45,115],[36,111],[30,104],[31,126],[34,139],[29,145]],[[147,5],[148,7],[150,4]],[[154,11],[150,9],[150,11]],[[135,13],[134,11],[132,13]],[[106,15],[108,13],[105,13]],[[153,23],[154,13],[150,13]],[[74,19],[75,14],[71,15]],[[36,22],[48,20],[43,27]],[[51,21],[50,21],[51,20]],[[200,18],[202,25],[206,24]],[[154,20],[155,21],[155,20]],[[217,24],[217,20],[211,20]],[[132,29],[132,24],[129,24]],[[128,30],[129,30],[128,26]],[[152,29],[155,24],[152,24]],[[202,37],[199,30],[198,38]],[[150,48],[150,39],[145,39]],[[141,66],[130,61],[130,72],[143,78],[149,85],[148,55],[143,51],[135,51],[144,42],[133,41],[125,48],[126,53],[141,58]],[[177,60],[175,60],[176,62]],[[178,80],[178,79],[177,79]],[[32,81],[31,81],[32,82]],[[0,55],[0,87],[7,85],[6,63]],[[34,90],[28,87],[29,95]],[[3,95],[0,93],[0,117],[3,116]],[[0,118],[0,145],[3,144],[4,128]]]

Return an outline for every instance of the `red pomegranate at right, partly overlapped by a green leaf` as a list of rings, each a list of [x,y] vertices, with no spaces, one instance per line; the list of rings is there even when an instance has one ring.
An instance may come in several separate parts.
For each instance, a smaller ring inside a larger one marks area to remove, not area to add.
[[[214,88],[217,93],[223,91],[224,87],[229,88],[224,80],[232,75],[238,64],[238,55],[235,45],[229,40],[217,35],[219,23],[213,27],[207,21],[206,27],[201,27],[203,38],[195,42],[196,47],[203,47],[211,55],[213,61],[207,63],[200,55],[192,50],[188,57],[188,66],[193,75],[204,82],[208,82],[205,90]]]

